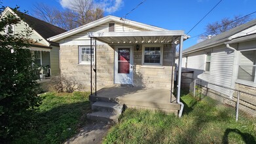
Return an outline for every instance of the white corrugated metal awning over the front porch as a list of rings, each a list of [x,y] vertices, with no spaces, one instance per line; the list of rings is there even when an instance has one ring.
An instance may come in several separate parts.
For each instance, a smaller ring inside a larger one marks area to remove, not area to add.
[[[127,43],[172,43],[184,31],[133,31],[133,32],[107,32],[89,33],[89,37],[107,44]]]

